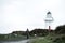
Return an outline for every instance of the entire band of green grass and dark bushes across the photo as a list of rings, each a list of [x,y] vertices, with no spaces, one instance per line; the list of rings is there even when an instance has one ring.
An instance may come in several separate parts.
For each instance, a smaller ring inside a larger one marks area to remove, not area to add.
[[[13,31],[10,34],[0,34],[0,41],[30,38],[34,38],[30,43],[65,43],[65,25],[58,26],[55,30],[51,30],[50,32],[48,29],[35,29],[31,31],[27,29],[27,31]]]

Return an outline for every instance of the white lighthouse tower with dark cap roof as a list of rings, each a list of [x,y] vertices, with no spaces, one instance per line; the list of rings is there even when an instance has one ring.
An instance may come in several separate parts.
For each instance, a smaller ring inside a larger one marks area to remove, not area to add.
[[[44,22],[46,22],[46,29],[49,29],[49,31],[50,31],[51,23],[53,22],[53,17],[52,17],[52,14],[50,11],[47,13],[47,17],[46,17]]]

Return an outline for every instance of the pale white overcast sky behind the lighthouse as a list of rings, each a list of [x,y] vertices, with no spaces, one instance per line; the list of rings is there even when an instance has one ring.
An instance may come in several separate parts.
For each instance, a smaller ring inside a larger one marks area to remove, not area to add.
[[[52,29],[65,24],[65,0],[0,0],[0,33],[44,29],[48,11],[54,18]]]

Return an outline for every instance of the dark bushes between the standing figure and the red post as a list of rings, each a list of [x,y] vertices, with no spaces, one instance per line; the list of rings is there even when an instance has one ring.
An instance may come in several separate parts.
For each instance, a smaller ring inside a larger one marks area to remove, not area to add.
[[[49,33],[49,31],[48,31],[48,29],[35,29],[35,30],[32,30],[32,31],[30,31],[29,32],[30,33],[30,35],[37,35],[37,37],[46,37],[46,35],[48,35],[48,33]]]

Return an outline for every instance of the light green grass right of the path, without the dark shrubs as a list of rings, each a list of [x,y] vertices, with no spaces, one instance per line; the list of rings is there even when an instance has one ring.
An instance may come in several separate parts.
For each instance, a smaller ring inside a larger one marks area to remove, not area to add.
[[[57,43],[58,41],[61,41],[61,39],[60,39],[62,35],[56,35],[56,34],[51,35],[50,34],[50,35],[47,35],[47,37],[34,39],[34,40],[31,40],[31,43]],[[57,38],[58,38],[58,40],[57,40]],[[55,41],[55,42],[53,42],[53,41]],[[65,40],[62,41],[62,42],[65,42]]]

